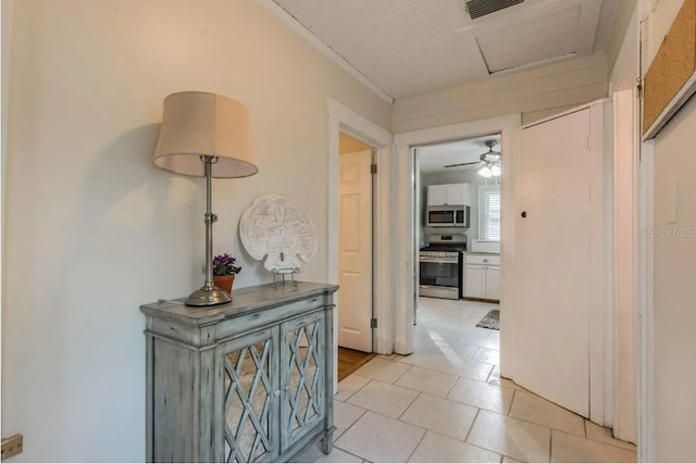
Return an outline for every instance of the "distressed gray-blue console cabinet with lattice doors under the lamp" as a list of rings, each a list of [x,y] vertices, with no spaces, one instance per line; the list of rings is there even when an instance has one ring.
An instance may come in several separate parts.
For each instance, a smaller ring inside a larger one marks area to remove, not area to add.
[[[287,462],[319,439],[331,452],[337,289],[263,285],[219,306],[140,306],[148,461]]]

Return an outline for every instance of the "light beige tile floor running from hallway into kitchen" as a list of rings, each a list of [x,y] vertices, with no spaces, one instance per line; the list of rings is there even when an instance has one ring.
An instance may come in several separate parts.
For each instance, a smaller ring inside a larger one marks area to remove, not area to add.
[[[334,449],[300,462],[635,462],[635,446],[500,377],[497,304],[421,298],[415,352],[338,384]]]

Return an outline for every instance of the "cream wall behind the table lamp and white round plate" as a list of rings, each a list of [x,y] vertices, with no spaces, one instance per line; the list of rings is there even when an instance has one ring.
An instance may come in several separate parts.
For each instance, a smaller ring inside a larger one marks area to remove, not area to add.
[[[4,24],[3,24],[4,25]],[[263,7],[228,0],[14,2],[2,301],[2,430],[25,461],[145,459],[142,303],[202,284],[204,188],[150,161],[162,99],[245,103],[260,173],[213,181],[214,252],[270,281],[237,238],[253,198],[294,198],[327,273],[327,99],[390,105]],[[4,52],[4,47],[3,47]]]

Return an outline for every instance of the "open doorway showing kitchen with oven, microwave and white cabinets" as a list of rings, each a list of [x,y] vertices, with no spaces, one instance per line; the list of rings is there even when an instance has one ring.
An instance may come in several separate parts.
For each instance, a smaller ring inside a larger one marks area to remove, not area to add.
[[[500,301],[499,147],[495,133],[411,148],[414,325],[423,297]]]

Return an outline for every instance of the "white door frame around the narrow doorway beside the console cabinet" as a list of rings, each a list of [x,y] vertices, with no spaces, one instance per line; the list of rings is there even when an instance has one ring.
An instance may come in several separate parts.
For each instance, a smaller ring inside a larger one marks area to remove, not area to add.
[[[373,351],[389,354],[394,347],[393,311],[394,272],[391,272],[391,147],[393,136],[366,117],[356,113],[334,99],[328,99],[328,281],[338,284],[338,189],[339,189],[339,134],[344,133],[374,148],[373,159],[378,166],[373,176],[372,191],[372,241],[373,241],[373,314],[377,328],[373,330]],[[340,302],[335,297],[336,308]],[[338,317],[334,317],[334,334],[338,333]],[[338,343],[334,343],[334,363],[338,365]],[[334,379],[334,390],[337,389]]]

